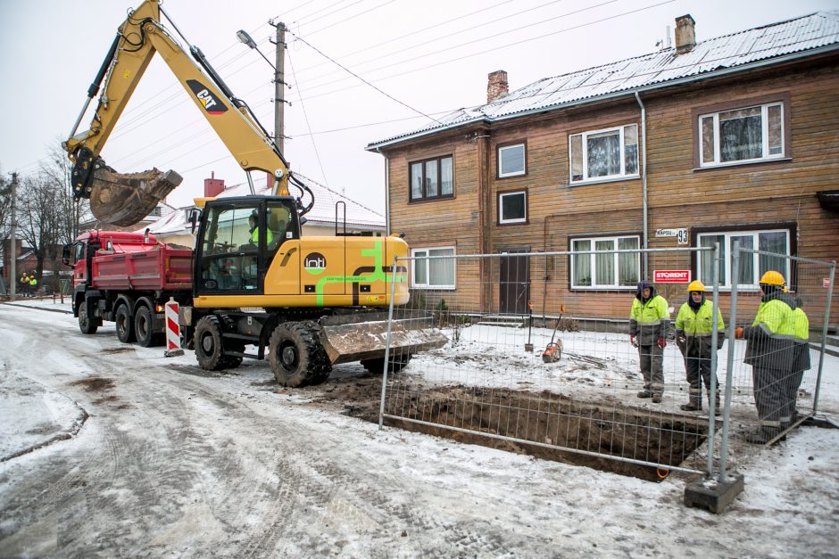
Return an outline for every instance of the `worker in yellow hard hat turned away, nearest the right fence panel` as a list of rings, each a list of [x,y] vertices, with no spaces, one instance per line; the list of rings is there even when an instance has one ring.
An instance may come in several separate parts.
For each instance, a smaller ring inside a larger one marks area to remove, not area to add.
[[[752,366],[754,404],[760,426],[746,440],[765,444],[781,432],[787,413],[787,388],[793,366],[793,310],[795,301],[784,292],[784,276],[774,270],[760,277],[760,306],[751,326],[735,329],[745,339],[743,363]]]

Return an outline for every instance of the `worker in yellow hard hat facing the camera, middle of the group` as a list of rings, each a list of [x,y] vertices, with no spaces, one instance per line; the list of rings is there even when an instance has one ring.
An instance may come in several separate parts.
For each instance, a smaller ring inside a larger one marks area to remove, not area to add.
[[[689,401],[679,406],[685,411],[702,409],[702,382],[708,390],[710,406],[710,358],[711,351],[722,348],[725,343],[726,323],[717,309],[717,324],[713,319],[714,303],[705,299],[705,285],[694,280],[687,286],[687,300],[678,309],[676,316],[676,342],[685,358],[685,374],[690,384]],[[711,348],[711,334],[717,328],[717,347]],[[719,415],[719,382],[713,387],[715,393],[714,412]]]

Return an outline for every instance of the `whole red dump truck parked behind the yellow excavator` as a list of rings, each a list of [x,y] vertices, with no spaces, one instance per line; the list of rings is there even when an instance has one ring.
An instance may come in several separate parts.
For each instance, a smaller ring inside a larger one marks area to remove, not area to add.
[[[64,245],[62,262],[73,267],[73,313],[82,333],[96,333],[108,320],[120,341],[159,345],[166,301],[192,303],[193,251],[153,234],[88,231]]]

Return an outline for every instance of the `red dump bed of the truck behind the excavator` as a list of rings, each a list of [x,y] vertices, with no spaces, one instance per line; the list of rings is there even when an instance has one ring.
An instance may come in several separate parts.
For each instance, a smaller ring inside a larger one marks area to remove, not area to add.
[[[190,290],[192,259],[192,251],[165,245],[141,251],[101,251],[93,258],[91,284],[99,290]]]

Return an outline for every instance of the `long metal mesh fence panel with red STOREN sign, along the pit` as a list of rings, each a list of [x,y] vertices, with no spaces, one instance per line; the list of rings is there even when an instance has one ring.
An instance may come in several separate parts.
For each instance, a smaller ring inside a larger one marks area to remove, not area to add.
[[[636,238],[572,248],[399,260],[411,300],[391,309],[391,324],[425,316],[447,341],[389,349],[383,418],[561,451],[595,467],[607,459],[710,474],[711,460],[685,458],[716,424],[709,397],[719,403],[719,393],[702,378],[691,391],[691,354],[675,322],[698,259],[710,264],[711,299],[714,249],[641,251]],[[645,300],[636,296],[644,278]],[[646,308],[630,338],[634,301],[663,316],[651,319]],[[710,371],[716,353],[694,356],[696,364]]]

